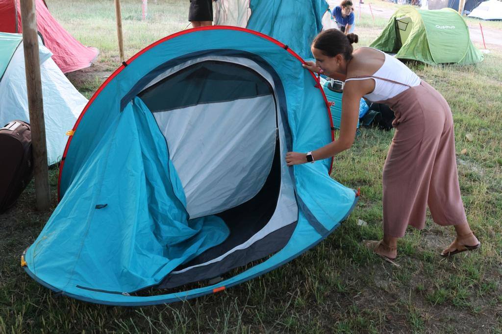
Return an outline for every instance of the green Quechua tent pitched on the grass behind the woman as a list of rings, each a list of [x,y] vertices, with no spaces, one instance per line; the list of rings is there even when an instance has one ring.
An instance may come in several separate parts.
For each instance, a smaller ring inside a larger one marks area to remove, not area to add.
[[[481,52],[472,45],[469,28],[451,8],[399,9],[370,47],[429,65],[468,65],[483,60]]]

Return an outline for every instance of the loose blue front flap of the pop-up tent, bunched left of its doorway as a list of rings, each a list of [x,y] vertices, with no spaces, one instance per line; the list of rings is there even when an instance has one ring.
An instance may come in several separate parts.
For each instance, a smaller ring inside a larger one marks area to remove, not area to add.
[[[216,216],[188,220],[184,202],[165,139],[136,98],[80,169],[26,261],[63,289],[155,284],[228,236]]]

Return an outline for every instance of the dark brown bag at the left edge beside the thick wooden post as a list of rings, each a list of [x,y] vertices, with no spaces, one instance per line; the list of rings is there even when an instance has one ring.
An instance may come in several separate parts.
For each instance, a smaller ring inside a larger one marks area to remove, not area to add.
[[[15,120],[0,128],[0,213],[12,207],[33,177],[30,124]]]

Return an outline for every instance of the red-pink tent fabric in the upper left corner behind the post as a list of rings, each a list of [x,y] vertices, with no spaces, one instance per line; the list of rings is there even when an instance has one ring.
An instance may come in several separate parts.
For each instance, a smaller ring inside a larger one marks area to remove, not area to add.
[[[20,0],[0,0],[0,31],[21,33]],[[97,57],[96,48],[85,47],[74,39],[49,13],[43,0],[35,0],[37,28],[52,59],[64,73],[89,67]],[[17,16],[17,20],[16,20]]]

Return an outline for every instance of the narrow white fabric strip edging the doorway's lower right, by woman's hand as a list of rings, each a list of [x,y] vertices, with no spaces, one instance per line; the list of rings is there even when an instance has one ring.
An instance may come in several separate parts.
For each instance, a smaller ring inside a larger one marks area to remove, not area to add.
[[[179,271],[173,271],[171,272],[172,274],[180,274],[183,273],[187,270],[193,269],[195,267],[200,267],[200,266],[205,266],[211,263],[215,263],[218,261],[223,260],[225,257],[227,257],[229,254],[240,250],[240,249],[246,249],[249,246],[253,245],[255,242],[265,238],[267,235],[270,233],[277,231],[278,229],[287,226],[291,223],[294,223],[298,220],[298,204],[296,203],[296,198],[295,198],[295,189],[294,189],[294,182],[293,179],[291,178],[291,175],[289,173],[289,167],[286,164],[286,135],[284,133],[284,128],[281,126],[282,125],[282,119],[281,119],[281,113],[278,112],[278,124],[279,124],[279,143],[280,143],[280,149],[281,149],[281,189],[279,192],[279,198],[277,200],[277,206],[276,210],[274,211],[274,214],[270,218],[269,222],[267,225],[264,226],[263,229],[258,231],[254,236],[249,238],[246,242],[235,246],[225,254],[216,257],[210,261],[207,261],[205,263],[197,264],[194,266],[190,266],[187,268],[184,268]]]

